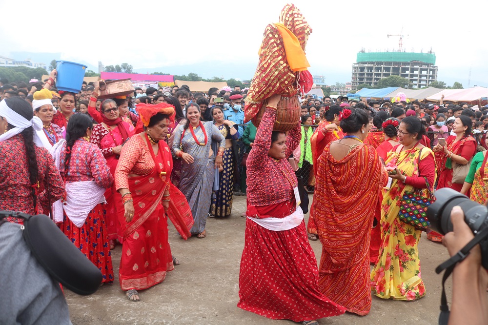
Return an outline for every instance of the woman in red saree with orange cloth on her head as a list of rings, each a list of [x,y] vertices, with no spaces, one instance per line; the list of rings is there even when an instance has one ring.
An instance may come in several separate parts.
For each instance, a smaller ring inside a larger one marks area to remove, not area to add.
[[[137,290],[162,282],[174,268],[166,216],[183,239],[191,236],[188,229],[193,224],[185,197],[169,181],[173,160],[168,145],[161,141],[166,139],[174,108],[166,103],[141,103],[137,111],[136,134],[123,146],[115,171],[125,209],[120,216],[119,281],[130,301],[139,301]]]

